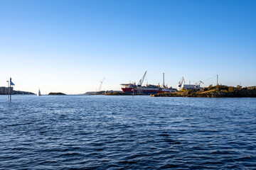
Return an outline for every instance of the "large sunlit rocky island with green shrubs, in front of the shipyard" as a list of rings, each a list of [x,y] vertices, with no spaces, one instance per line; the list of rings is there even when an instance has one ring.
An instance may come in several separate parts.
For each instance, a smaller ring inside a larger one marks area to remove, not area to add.
[[[256,97],[256,86],[208,86],[203,89],[181,90],[170,94],[154,94],[152,97]]]

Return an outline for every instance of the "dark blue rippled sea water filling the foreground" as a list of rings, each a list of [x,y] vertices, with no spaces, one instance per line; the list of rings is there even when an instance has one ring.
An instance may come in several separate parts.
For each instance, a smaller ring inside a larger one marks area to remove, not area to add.
[[[0,96],[0,169],[255,169],[256,98]]]

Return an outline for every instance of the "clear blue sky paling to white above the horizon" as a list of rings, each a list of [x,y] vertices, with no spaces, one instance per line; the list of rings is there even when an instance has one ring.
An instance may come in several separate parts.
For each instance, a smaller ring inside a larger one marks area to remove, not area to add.
[[[255,54],[256,1],[0,1],[0,86],[16,90],[120,90],[146,70],[253,86]]]

